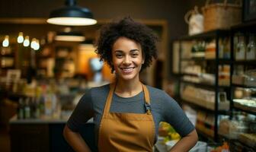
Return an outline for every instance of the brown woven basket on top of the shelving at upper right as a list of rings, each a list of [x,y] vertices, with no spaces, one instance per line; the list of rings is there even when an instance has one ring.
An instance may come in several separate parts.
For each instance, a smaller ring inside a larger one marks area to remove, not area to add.
[[[212,1],[207,0],[206,5],[202,8],[204,31],[229,29],[232,25],[241,23],[241,1],[236,1],[235,4],[228,4],[227,0],[224,0],[223,3],[210,4],[210,2]]]

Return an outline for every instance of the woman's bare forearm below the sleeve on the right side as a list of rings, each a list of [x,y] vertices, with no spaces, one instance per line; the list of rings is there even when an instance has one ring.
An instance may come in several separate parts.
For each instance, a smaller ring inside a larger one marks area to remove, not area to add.
[[[174,145],[174,147],[171,148],[170,152],[178,151],[178,152],[187,152],[192,147],[194,147],[195,144],[197,144],[198,136],[197,131],[194,129],[191,131],[188,135],[181,138],[178,143]]]

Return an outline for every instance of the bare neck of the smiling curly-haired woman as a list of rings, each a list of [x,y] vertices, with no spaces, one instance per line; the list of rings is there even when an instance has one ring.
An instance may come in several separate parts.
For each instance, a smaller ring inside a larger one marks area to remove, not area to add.
[[[120,97],[133,97],[142,91],[142,84],[137,80],[123,81],[117,79],[115,93]]]

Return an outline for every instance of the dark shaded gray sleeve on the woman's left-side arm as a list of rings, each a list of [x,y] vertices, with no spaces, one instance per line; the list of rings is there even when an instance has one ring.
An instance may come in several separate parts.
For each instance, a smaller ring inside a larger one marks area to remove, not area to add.
[[[67,126],[72,131],[78,131],[94,115],[93,103],[91,100],[91,89],[85,91],[78,104],[75,106],[72,115],[69,117]]]

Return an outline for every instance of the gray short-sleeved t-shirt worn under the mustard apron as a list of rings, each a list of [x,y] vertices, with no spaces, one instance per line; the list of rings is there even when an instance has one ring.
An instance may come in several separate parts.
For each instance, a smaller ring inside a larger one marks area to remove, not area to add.
[[[182,137],[194,130],[194,125],[187,119],[178,103],[168,96],[163,90],[146,85],[149,90],[152,116],[155,122],[155,137],[158,135],[159,122],[168,122]],[[88,119],[94,118],[95,138],[98,141],[98,131],[103,114],[110,85],[92,87],[85,92],[75,110],[72,112],[68,127],[72,131],[78,131]],[[134,97],[119,97],[113,94],[110,112],[145,113],[145,99],[143,91]],[[155,139],[156,139],[155,138]]]

